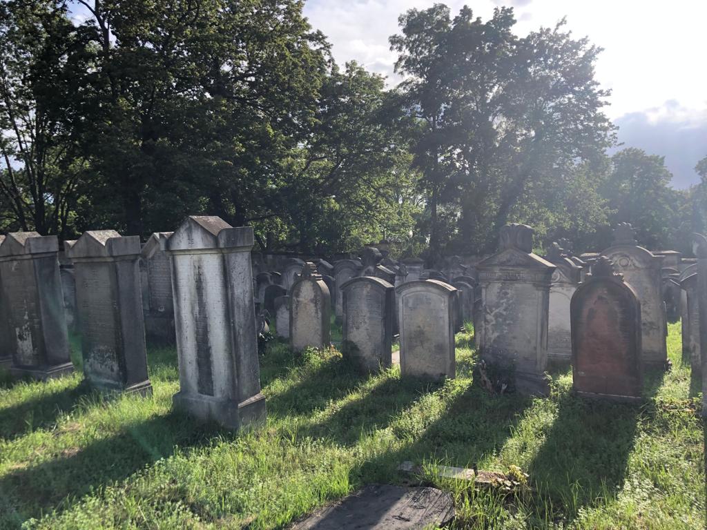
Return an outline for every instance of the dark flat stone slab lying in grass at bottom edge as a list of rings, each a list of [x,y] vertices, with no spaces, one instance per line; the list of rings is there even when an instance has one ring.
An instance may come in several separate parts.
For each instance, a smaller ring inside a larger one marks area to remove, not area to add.
[[[449,493],[373,484],[311,514],[292,530],[423,529],[443,526],[454,517]]]

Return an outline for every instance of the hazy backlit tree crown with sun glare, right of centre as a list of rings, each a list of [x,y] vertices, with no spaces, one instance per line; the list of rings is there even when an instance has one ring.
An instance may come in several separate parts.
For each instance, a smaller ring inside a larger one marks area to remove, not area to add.
[[[563,21],[521,38],[510,8],[483,22],[466,6],[452,20],[436,4],[399,23],[402,34],[390,43],[396,71],[408,76],[399,89],[422,127],[412,151],[428,197],[432,259],[443,244],[440,205],[457,210],[467,249],[489,252],[502,225],[521,212],[530,218],[520,220],[532,219],[529,204],[558,209],[548,189],[602,164],[614,136],[601,112],[608,92],[594,79],[600,49],[573,40]]]

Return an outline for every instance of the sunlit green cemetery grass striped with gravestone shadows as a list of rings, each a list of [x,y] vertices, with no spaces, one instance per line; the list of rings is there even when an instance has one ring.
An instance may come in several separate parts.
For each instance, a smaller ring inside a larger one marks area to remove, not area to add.
[[[171,411],[172,348],[149,352],[151,399],[101,397],[79,375],[5,379],[0,528],[281,528],[366,483],[450,490],[460,529],[705,527],[704,432],[679,324],[673,370],[646,377],[642,405],[576,399],[566,371],[549,399],[490,396],[474,384],[468,331],[444,384],[401,380],[397,367],[358,375],[337,351],[270,343],[267,425],[238,435]],[[72,348],[78,364],[76,338]],[[425,471],[404,476],[404,460]],[[432,464],[529,478],[477,490]]]

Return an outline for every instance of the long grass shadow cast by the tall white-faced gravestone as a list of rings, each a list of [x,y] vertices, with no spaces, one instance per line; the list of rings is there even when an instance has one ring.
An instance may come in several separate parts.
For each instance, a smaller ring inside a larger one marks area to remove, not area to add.
[[[66,510],[95,488],[120,481],[180,449],[209,443],[219,431],[214,424],[171,412],[82,449],[66,449],[62,457],[18,467],[0,478],[0,508],[6,521],[19,527],[31,517]],[[9,517],[8,517],[9,516]]]

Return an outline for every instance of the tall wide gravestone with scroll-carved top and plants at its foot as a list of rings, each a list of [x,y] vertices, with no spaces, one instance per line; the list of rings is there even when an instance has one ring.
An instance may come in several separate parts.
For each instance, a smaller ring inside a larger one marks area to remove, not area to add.
[[[476,333],[481,357],[513,373],[522,394],[548,391],[547,326],[550,285],[556,266],[532,253],[533,230],[501,229],[501,248],[477,266],[481,318]]]

